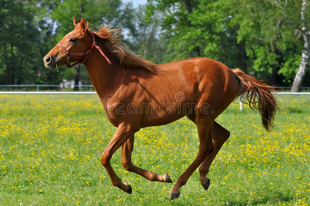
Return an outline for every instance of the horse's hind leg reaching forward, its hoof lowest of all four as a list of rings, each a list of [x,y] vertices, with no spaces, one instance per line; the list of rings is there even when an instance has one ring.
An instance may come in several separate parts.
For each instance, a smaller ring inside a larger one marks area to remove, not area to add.
[[[183,174],[178,178],[175,185],[170,191],[169,199],[175,199],[180,195],[180,187],[186,184],[193,172],[198,168],[198,166],[205,160],[205,158],[210,155],[213,151],[212,143],[212,124],[213,121],[205,119],[206,117],[197,118],[196,121],[199,135],[199,151],[196,159],[190,165],[190,167],[185,170]]]

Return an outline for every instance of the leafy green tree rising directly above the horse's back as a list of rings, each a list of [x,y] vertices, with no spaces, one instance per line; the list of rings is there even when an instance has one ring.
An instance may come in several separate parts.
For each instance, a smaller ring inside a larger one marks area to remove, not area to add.
[[[161,26],[169,42],[167,62],[205,56],[230,67],[245,65],[227,1],[149,0],[147,8],[148,16],[163,12]]]

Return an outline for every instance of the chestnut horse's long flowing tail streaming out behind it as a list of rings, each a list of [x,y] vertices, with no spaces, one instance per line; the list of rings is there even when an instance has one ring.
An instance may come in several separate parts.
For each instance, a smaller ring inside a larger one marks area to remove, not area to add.
[[[272,94],[275,92],[274,87],[245,74],[240,69],[233,69],[232,72],[239,80],[239,89],[235,98],[240,97],[242,103],[246,103],[245,100],[247,100],[251,109],[258,109],[264,128],[270,131],[278,108],[277,100]]]

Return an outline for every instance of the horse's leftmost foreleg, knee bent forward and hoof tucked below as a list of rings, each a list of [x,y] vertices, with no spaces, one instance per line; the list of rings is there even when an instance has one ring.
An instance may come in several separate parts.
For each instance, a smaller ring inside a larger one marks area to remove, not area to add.
[[[123,145],[127,141],[127,139],[132,136],[136,131],[137,130],[133,130],[130,125],[120,124],[107,148],[103,151],[101,155],[101,164],[107,170],[112,184],[115,187],[118,187],[122,191],[125,191],[129,194],[132,193],[131,186],[128,183],[121,182],[121,179],[116,175],[115,171],[113,170],[110,160],[114,152],[118,148],[120,148],[120,146]]]

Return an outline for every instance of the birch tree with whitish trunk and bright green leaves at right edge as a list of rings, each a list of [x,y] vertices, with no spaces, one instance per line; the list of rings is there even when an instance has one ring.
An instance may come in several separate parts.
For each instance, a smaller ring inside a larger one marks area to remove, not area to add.
[[[304,0],[233,0],[238,5],[234,11],[240,25],[238,41],[245,42],[255,71],[271,74],[274,84],[278,75],[289,85],[295,76],[292,92],[299,91],[309,61],[308,4]],[[300,51],[301,56],[296,55]]]

